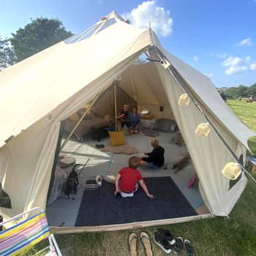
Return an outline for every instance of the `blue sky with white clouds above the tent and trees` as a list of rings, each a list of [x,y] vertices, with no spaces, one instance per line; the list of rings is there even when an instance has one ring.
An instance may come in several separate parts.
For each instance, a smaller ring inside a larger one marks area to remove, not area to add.
[[[162,45],[216,86],[256,83],[256,0],[1,0],[0,36],[31,18],[59,18],[79,33],[116,10],[157,31]]]

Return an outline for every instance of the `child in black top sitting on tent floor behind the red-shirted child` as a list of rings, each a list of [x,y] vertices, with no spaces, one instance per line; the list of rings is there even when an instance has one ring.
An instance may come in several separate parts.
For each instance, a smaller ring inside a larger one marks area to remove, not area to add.
[[[159,141],[156,139],[151,140],[151,146],[154,148],[153,151],[151,153],[144,153],[146,157],[140,158],[140,165],[157,169],[165,163],[165,148],[159,146]]]

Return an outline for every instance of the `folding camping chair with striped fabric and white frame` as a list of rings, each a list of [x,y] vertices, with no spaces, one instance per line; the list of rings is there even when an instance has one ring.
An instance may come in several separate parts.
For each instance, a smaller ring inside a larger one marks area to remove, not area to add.
[[[53,234],[50,234],[45,211],[39,207],[32,208],[11,219],[7,219],[6,221],[1,222],[0,226],[32,212],[37,212],[37,214],[0,232],[0,255],[18,255],[23,250],[29,249],[29,247],[48,238],[50,245],[37,252],[36,255],[48,250],[45,255],[62,256],[56,239]]]

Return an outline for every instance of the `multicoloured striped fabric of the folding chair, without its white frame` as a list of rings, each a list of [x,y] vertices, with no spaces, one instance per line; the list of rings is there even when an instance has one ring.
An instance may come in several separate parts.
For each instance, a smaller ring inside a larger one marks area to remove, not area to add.
[[[18,255],[50,236],[45,212],[0,232],[0,255]]]

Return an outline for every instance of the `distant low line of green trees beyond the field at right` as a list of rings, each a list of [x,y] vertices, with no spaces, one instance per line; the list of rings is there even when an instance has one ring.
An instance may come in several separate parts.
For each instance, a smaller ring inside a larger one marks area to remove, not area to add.
[[[239,97],[242,98],[249,98],[249,97],[256,97],[256,83],[252,86],[238,86],[238,87],[230,87],[229,89],[225,90],[224,93],[227,97],[238,99]]]

